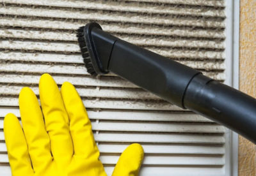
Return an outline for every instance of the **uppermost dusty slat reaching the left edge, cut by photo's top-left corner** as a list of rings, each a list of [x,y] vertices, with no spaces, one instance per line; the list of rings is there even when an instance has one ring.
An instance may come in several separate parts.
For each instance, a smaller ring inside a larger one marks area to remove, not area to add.
[[[110,10],[110,11],[127,11],[134,13],[157,13],[168,15],[193,15],[193,16],[205,16],[205,17],[225,17],[223,10],[208,9],[202,11],[200,8],[186,8],[182,7],[180,10],[177,6],[154,6],[154,4],[144,4],[125,1],[119,3],[113,1],[56,1],[56,0],[2,0],[3,3],[14,4],[27,4],[35,6],[53,6],[63,8],[78,8],[78,9],[92,9],[92,10]]]

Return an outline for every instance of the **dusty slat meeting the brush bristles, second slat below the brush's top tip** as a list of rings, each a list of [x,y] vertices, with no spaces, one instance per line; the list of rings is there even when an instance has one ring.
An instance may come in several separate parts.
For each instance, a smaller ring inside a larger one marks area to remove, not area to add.
[[[116,35],[122,40],[133,43],[134,45],[142,46],[157,46],[157,47],[184,47],[184,48],[212,48],[224,49],[224,43],[220,41],[209,40],[180,40],[173,38],[156,38],[150,36],[127,36]],[[1,38],[20,38],[29,40],[49,40],[49,41],[77,41],[76,33],[65,32],[49,32],[49,31],[24,31],[16,29],[0,29]]]

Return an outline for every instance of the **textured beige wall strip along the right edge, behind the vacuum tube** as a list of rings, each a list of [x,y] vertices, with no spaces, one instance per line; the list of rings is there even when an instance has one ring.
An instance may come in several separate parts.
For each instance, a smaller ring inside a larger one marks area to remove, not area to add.
[[[240,1],[239,89],[256,98],[256,1]],[[256,134],[255,134],[256,135]],[[238,173],[256,175],[256,145],[239,136]]]

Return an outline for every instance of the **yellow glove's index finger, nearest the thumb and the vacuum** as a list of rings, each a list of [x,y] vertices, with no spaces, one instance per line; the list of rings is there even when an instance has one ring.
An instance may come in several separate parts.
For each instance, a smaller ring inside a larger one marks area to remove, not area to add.
[[[70,118],[70,133],[75,154],[98,159],[99,150],[93,138],[92,125],[75,87],[69,82],[63,83],[61,96]]]

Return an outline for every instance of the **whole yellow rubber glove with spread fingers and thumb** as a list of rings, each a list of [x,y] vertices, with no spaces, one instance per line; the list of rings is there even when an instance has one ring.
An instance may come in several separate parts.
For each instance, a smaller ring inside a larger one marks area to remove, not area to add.
[[[51,75],[44,74],[39,92],[42,111],[31,89],[24,87],[20,92],[22,127],[13,114],[4,118],[12,175],[106,175],[90,119],[74,86],[65,82],[59,91]],[[141,145],[130,145],[120,156],[113,176],[138,175],[142,160]]]

